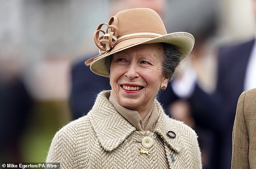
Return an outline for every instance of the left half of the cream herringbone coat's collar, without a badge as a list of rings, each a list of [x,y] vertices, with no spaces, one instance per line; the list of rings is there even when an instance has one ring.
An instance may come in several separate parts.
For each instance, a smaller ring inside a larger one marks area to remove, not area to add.
[[[110,91],[101,92],[88,113],[92,128],[106,151],[117,148],[136,130],[109,102],[109,95]]]

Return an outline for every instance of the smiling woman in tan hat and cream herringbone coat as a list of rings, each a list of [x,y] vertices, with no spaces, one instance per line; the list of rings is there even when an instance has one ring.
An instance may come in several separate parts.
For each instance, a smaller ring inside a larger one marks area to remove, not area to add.
[[[201,168],[195,132],[170,119],[155,99],[191,52],[193,36],[167,34],[149,8],[119,12],[107,32],[103,25],[94,33],[100,54],[86,65],[109,77],[112,90],[99,93],[88,115],[57,132],[47,162],[61,168]]]

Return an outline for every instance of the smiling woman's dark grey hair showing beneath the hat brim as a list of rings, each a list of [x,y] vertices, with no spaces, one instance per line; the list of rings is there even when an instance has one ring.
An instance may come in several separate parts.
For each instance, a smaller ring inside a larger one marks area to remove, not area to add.
[[[162,71],[163,74],[169,78],[169,81],[172,80],[172,76],[178,64],[181,61],[181,52],[178,47],[168,44],[160,43],[164,50],[164,57],[162,62]],[[110,66],[112,62],[113,55],[105,58],[105,66],[107,72],[110,74]]]

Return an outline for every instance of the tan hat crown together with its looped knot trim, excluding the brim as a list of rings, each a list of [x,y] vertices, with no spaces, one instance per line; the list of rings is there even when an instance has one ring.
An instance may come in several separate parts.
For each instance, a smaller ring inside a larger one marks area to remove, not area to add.
[[[106,31],[101,29],[103,25],[108,26]],[[104,35],[100,36],[100,32]],[[127,39],[154,38],[166,34],[164,23],[157,12],[149,8],[134,8],[118,12],[108,24],[101,23],[94,33],[94,42],[99,54],[103,55]]]

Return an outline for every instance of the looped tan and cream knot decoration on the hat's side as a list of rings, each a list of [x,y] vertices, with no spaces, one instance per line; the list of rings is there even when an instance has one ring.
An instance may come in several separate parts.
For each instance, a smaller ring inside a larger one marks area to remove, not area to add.
[[[113,25],[111,25],[111,23]],[[115,46],[115,43],[118,40],[118,34],[119,34],[119,29],[116,26],[118,23],[118,18],[116,16],[113,16],[110,20],[109,23],[101,23],[97,31],[94,33],[94,43],[96,46],[99,48],[99,54],[105,54],[108,52],[111,48]],[[103,31],[101,27],[103,25],[107,25],[107,32]],[[99,33],[102,32],[104,35],[99,37]]]

